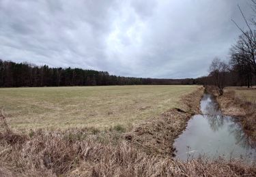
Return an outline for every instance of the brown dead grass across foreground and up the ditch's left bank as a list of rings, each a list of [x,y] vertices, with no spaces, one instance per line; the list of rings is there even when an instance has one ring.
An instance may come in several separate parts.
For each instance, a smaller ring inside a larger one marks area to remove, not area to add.
[[[198,92],[182,98],[182,112],[171,109],[159,118],[134,127],[131,135],[135,140],[140,140],[143,146],[150,139],[155,141],[157,138],[167,144],[175,133],[180,132],[175,127],[182,129],[182,126],[186,126],[186,115],[195,114],[199,110],[198,103],[195,103],[199,97]],[[194,109],[195,112],[192,111]],[[180,119],[181,122],[177,122]],[[3,120],[5,116],[2,115]],[[182,162],[171,159],[169,155],[160,155],[161,151],[146,153],[143,148],[125,139],[128,134],[122,133],[123,129],[119,125],[104,131],[91,127],[59,131],[38,129],[27,133],[15,133],[6,123],[0,127],[0,176],[256,175],[255,165],[245,165],[241,161],[194,159]],[[152,149],[164,147],[157,144]]]

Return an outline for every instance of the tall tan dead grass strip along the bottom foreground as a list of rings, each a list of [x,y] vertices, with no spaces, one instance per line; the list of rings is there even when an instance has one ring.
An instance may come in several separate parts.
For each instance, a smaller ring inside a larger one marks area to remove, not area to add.
[[[255,166],[240,161],[195,159],[182,162],[147,155],[125,141],[116,145],[100,143],[97,136],[87,134],[84,140],[75,140],[67,138],[63,132],[35,131],[32,138],[16,144],[0,139],[1,176],[256,175]]]

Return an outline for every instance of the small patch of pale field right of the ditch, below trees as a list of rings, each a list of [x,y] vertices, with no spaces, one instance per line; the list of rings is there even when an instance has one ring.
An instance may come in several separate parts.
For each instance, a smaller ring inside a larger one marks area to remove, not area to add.
[[[228,90],[235,91],[236,97],[244,101],[256,103],[256,88],[229,87]]]

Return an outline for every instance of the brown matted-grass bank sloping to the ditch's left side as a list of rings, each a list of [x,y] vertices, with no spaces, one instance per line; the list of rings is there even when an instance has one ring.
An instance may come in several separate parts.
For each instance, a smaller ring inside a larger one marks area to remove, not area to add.
[[[126,133],[125,138],[147,154],[173,155],[173,142],[184,129],[191,116],[200,112],[203,88],[184,96],[181,107],[173,108],[159,117],[145,121]]]

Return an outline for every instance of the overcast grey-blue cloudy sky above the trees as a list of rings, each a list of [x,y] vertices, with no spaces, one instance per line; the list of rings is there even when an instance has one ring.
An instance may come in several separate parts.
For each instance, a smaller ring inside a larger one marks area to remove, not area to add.
[[[245,27],[250,0],[0,0],[0,59],[118,76],[196,78]]]

